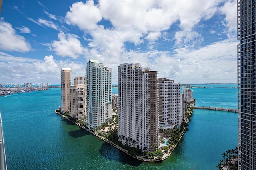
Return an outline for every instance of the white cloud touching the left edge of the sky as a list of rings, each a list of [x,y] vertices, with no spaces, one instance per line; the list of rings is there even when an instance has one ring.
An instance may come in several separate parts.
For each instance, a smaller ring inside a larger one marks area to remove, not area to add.
[[[27,52],[32,49],[25,37],[18,35],[4,18],[0,19],[0,35],[1,50]]]

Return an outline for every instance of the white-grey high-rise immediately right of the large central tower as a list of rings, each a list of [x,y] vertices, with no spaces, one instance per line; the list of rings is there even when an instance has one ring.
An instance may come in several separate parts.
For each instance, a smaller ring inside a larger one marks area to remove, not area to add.
[[[159,78],[159,121],[162,124],[180,125],[184,116],[184,100],[180,93],[180,83]]]

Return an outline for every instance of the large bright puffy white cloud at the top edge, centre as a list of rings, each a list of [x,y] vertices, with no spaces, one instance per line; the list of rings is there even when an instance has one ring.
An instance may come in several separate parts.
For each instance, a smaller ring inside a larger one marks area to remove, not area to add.
[[[102,16],[118,30],[136,29],[142,33],[166,30],[178,19],[175,14],[178,10],[168,11],[170,2],[100,0],[99,4]]]

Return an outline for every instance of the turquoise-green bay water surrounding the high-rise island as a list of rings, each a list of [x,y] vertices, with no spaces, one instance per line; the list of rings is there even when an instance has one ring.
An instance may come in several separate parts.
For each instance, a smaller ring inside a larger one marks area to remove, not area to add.
[[[192,90],[196,106],[236,108],[236,89]],[[0,96],[9,170],[217,170],[221,154],[237,145],[237,113],[194,109],[173,154],[141,162],[56,115],[60,103],[60,88]]]

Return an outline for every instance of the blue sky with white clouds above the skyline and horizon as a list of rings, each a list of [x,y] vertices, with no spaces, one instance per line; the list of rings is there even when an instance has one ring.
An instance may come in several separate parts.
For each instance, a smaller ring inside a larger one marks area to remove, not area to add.
[[[141,63],[181,84],[237,82],[236,0],[4,0],[0,83],[60,84],[89,59]],[[73,82],[73,81],[72,81]]]

